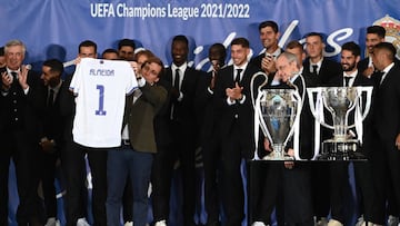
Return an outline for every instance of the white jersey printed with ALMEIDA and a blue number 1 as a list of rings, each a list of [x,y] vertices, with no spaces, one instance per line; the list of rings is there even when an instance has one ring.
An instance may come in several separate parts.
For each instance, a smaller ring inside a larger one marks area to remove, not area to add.
[[[129,62],[81,59],[70,85],[77,96],[73,140],[96,148],[120,146],[126,95],[137,88]]]

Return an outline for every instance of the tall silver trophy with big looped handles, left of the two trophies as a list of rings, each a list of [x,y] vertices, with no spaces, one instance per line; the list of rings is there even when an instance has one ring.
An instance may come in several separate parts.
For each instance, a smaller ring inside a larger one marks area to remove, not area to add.
[[[264,82],[258,87],[258,95],[254,98],[253,81],[258,76],[264,77]],[[268,76],[257,72],[251,79],[251,100],[254,108],[254,159],[259,160],[257,154],[259,129],[261,128],[272,146],[273,151],[263,157],[263,160],[293,160],[284,151],[287,143],[294,134],[294,157],[299,157],[299,122],[302,108],[302,99],[298,87],[288,82],[293,89],[261,89],[268,81]],[[303,81],[303,80],[302,80]],[[296,132],[294,132],[296,130]]]

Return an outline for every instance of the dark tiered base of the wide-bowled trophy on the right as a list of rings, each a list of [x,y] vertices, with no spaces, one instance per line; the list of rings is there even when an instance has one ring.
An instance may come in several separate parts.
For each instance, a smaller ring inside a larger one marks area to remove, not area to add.
[[[356,139],[346,141],[329,139],[322,143],[322,151],[320,156],[317,157],[317,160],[367,160],[367,157],[359,150],[360,144]]]

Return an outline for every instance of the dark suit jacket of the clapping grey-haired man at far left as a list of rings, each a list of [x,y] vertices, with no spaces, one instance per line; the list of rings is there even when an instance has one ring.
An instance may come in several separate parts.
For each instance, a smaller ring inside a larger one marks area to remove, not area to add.
[[[0,68],[0,73],[7,71],[7,68]],[[22,87],[18,81],[13,81],[10,90],[7,95],[3,95],[4,90],[0,94],[0,135],[9,132],[10,130],[21,129],[27,132],[27,139],[31,141],[40,140],[40,116],[44,107],[43,96],[40,92],[40,77],[34,71],[28,72],[27,82],[29,85],[29,91],[26,95]],[[14,95],[13,95],[14,94]],[[14,107],[13,99],[17,99],[17,106]],[[17,109],[14,111],[13,109]],[[16,116],[18,121],[14,120]]]

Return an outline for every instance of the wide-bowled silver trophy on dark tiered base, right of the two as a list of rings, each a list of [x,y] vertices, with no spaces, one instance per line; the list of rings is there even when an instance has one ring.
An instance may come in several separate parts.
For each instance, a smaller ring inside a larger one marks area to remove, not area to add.
[[[364,159],[358,150],[362,145],[362,121],[371,106],[372,87],[318,87],[307,88],[307,92],[316,119],[314,158],[319,160]],[[332,116],[332,125],[326,122],[324,109]],[[349,125],[349,118],[353,121],[351,125]],[[333,138],[323,140],[321,151],[319,151],[319,125],[333,130]],[[351,128],[356,129],[357,138]]]

